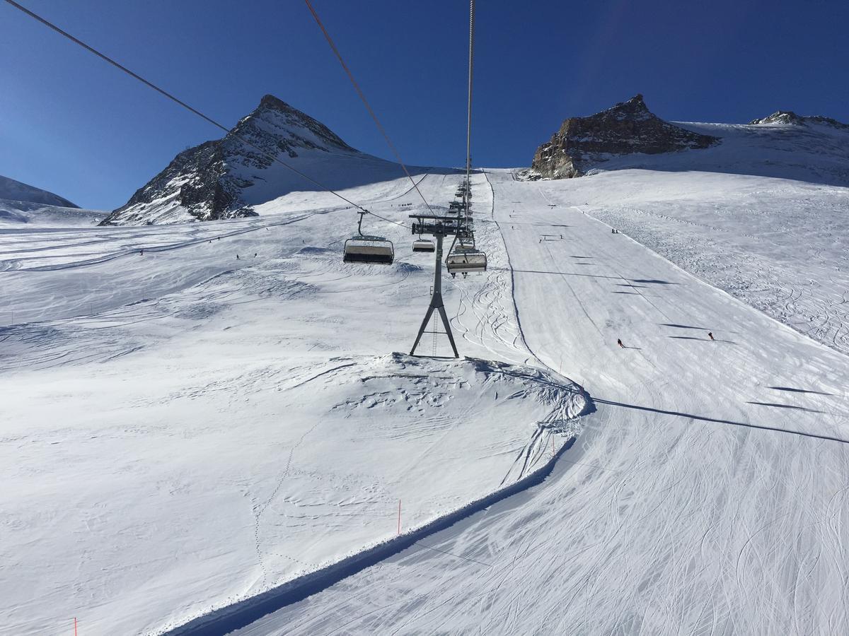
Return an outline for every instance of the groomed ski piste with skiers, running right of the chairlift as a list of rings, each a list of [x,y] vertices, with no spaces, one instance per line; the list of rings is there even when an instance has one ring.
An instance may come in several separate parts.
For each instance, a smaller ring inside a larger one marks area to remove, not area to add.
[[[846,438],[846,357],[488,176],[521,333],[598,410],[545,483],[425,542],[451,555],[411,547],[237,633],[849,632],[849,445],[734,426]]]

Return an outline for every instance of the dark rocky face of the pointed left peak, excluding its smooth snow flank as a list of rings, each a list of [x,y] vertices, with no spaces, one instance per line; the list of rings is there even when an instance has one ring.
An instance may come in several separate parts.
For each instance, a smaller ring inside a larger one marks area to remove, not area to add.
[[[305,151],[359,154],[321,122],[266,95],[222,139],[177,154],[100,225],[172,222],[187,214],[198,220],[256,215],[242,196],[245,188],[266,179],[262,171],[276,163],[272,157],[288,163]]]

